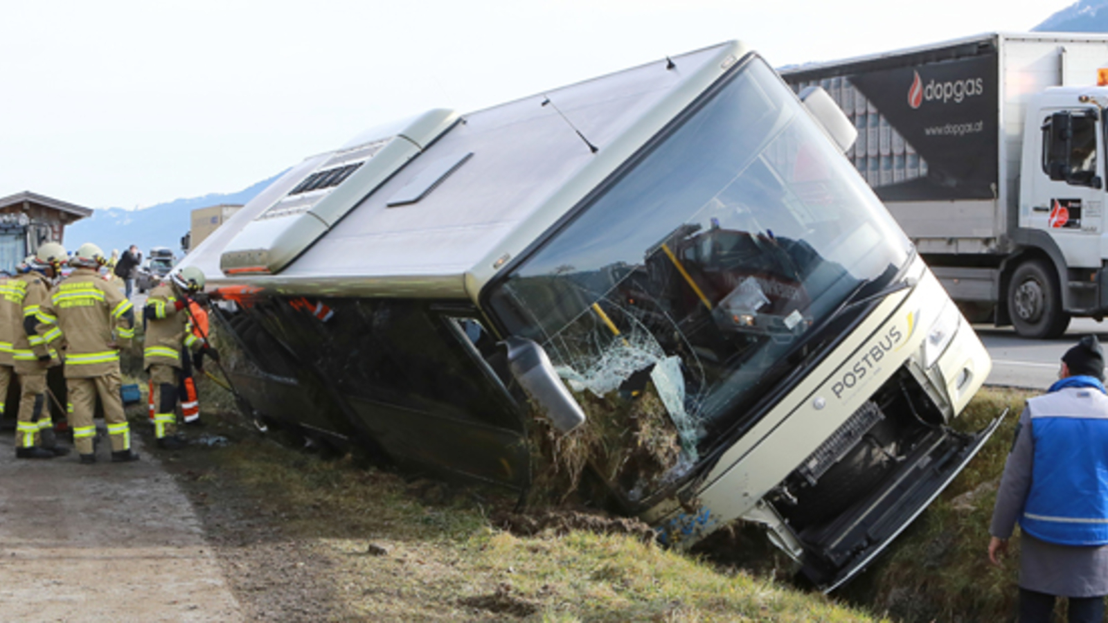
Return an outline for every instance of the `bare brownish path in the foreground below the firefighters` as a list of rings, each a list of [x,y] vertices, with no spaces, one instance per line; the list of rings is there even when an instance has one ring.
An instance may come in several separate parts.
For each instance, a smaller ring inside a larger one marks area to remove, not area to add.
[[[242,621],[185,494],[161,462],[16,460],[0,435],[7,621]]]

